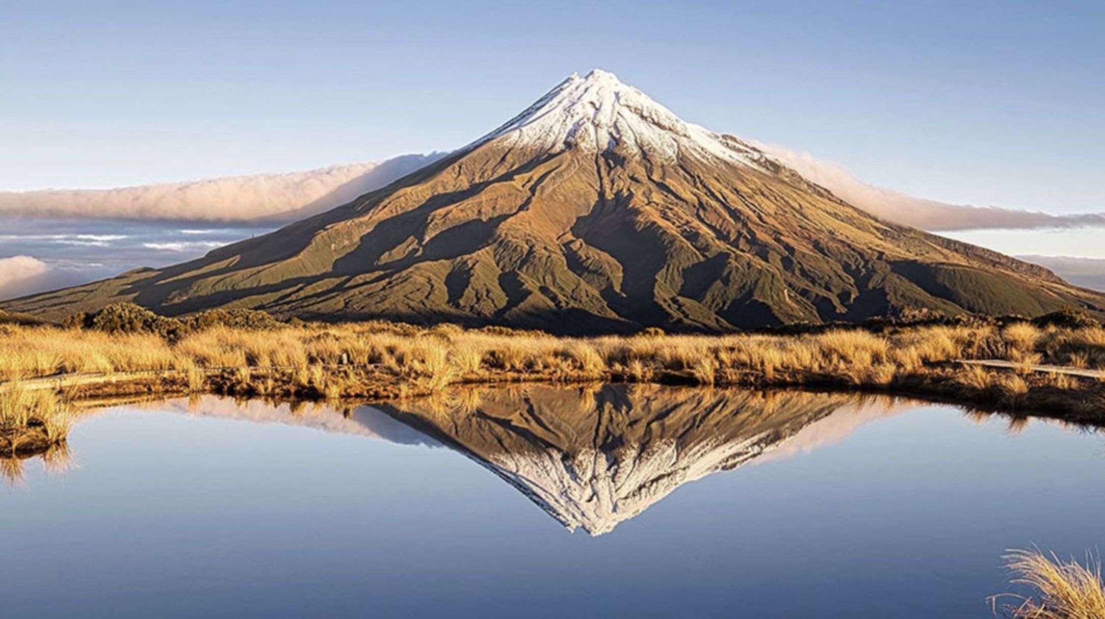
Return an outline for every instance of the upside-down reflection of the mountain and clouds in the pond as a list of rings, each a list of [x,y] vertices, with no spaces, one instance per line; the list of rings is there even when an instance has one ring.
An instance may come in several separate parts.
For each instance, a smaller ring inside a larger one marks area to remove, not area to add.
[[[591,535],[612,531],[684,483],[835,442],[863,423],[912,408],[885,397],[640,385],[465,388],[344,410],[214,396],[147,406],[444,445],[502,478],[569,531]],[[42,460],[59,472],[69,462],[64,455]],[[0,460],[4,476],[18,482],[22,461]]]

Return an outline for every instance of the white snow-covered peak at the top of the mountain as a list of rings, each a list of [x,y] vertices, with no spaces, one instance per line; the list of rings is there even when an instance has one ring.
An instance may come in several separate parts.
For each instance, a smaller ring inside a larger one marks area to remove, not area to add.
[[[476,140],[511,147],[617,150],[674,160],[716,157],[760,167],[764,155],[739,139],[687,123],[609,71],[572,73],[505,125]]]

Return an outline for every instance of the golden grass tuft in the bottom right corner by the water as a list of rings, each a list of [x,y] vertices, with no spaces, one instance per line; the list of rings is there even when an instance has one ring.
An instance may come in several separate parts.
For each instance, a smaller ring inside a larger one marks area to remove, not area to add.
[[[1012,583],[1034,589],[1031,597],[1018,597],[1020,604],[1007,609],[1012,619],[1105,618],[1101,560],[1087,556],[1082,565],[1039,550],[1013,550],[1004,558],[1014,574]]]

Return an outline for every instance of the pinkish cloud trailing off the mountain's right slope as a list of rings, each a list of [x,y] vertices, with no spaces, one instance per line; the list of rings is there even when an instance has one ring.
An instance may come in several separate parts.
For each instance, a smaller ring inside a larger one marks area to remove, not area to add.
[[[860,180],[843,166],[781,146],[753,143],[838,198],[875,217],[933,231],[1084,228],[1105,225],[1105,213],[1050,214],[926,200]]]

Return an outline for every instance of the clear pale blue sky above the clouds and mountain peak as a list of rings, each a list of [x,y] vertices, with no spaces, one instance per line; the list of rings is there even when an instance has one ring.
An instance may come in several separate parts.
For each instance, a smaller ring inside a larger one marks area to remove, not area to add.
[[[600,66],[878,185],[1105,208],[1101,1],[0,7],[0,190],[451,149]]]

